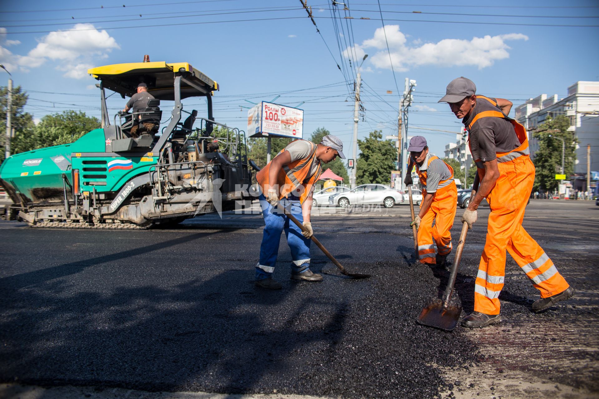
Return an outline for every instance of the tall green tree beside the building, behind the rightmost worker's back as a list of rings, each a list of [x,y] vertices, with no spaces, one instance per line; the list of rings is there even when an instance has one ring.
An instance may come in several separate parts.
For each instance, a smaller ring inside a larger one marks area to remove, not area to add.
[[[570,120],[565,115],[555,118],[548,117],[534,130],[534,138],[539,140],[539,150],[534,153],[534,166],[536,175],[534,177],[533,190],[553,191],[558,188],[559,181],[555,179],[556,166],[561,168],[562,140],[565,142],[564,174],[566,178],[574,174],[574,163],[576,162],[576,144],[573,132],[568,132]]]

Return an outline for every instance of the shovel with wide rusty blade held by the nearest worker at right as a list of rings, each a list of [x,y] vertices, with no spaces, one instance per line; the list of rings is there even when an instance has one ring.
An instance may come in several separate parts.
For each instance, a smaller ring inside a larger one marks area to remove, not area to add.
[[[449,300],[453,293],[453,284],[455,284],[455,278],[458,275],[459,261],[462,258],[462,251],[464,250],[464,242],[466,240],[466,234],[468,233],[468,224],[462,225],[462,232],[459,234],[458,251],[455,253],[455,259],[451,268],[451,274],[449,275],[449,281],[447,282],[447,288],[443,294],[443,300],[435,300],[428,304],[420,316],[418,316],[418,323],[422,325],[428,325],[429,327],[440,328],[445,331],[452,331],[456,325],[458,325],[459,315],[462,313],[461,306],[450,306]]]

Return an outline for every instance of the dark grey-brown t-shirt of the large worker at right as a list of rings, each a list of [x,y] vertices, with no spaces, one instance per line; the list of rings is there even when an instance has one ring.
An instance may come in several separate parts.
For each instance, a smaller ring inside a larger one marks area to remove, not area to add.
[[[491,98],[491,100],[497,102],[494,98]],[[483,98],[478,98],[474,109],[470,112],[468,118],[464,118],[462,122],[468,127],[477,114],[485,111],[501,112],[501,108]],[[520,146],[520,141],[512,123],[507,119],[497,117],[479,118],[471,127],[468,139],[470,140],[472,158],[475,162],[476,160],[492,161],[497,158],[496,153],[509,153],[509,151]],[[483,167],[480,162],[477,163],[477,166]]]

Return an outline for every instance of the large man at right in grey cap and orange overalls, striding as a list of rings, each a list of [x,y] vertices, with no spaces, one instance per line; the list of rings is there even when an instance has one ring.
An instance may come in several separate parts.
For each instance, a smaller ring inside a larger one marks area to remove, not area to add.
[[[491,206],[485,248],[474,286],[474,312],[462,325],[485,327],[501,321],[498,297],[503,288],[506,249],[540,291],[540,299],[532,306],[534,312],[570,298],[573,289],[543,248],[522,227],[535,170],[524,126],[507,116],[512,102],[476,95],[474,82],[464,77],[452,80],[439,102],[449,103],[453,114],[462,118],[477,167],[470,204],[462,215],[462,222],[471,229],[480,202],[486,198]]]

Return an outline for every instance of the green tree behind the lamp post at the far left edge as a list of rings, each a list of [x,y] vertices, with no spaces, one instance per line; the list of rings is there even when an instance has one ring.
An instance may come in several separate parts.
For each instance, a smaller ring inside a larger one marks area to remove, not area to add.
[[[19,135],[22,133],[31,132],[34,128],[33,116],[28,112],[23,111],[23,107],[27,103],[28,95],[26,92],[23,92],[20,86],[13,87],[13,101],[11,106],[11,127],[15,131],[15,135]],[[0,135],[2,135],[2,139],[0,139],[1,146],[1,154],[0,154],[0,162],[4,161],[5,154],[5,140],[6,140],[6,111],[8,104],[8,87],[0,86]],[[15,154],[13,140],[11,139],[11,154]]]

